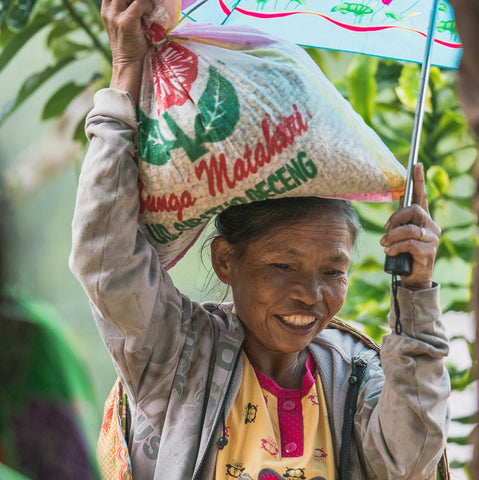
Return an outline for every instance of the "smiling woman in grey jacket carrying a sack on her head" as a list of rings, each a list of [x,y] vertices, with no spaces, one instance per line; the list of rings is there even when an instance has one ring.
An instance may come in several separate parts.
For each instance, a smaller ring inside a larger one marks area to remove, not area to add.
[[[386,253],[414,259],[398,289],[403,334],[385,337],[381,361],[345,327],[328,328],[359,228],[347,202],[226,210],[212,266],[233,304],[191,301],[137,231],[140,18],[150,9],[148,0],[102,6],[113,75],[87,120],[71,256],[128,396],[133,477],[433,475],[446,441],[448,346],[431,280],[439,228],[422,169],[414,205],[392,215],[381,240]]]

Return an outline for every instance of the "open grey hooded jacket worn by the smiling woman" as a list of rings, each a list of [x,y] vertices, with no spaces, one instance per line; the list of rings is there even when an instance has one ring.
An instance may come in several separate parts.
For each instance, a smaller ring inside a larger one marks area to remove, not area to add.
[[[216,441],[242,379],[243,329],[231,305],[182,295],[139,231],[137,128],[128,94],[96,94],[70,267],[128,395],[135,480],[212,479]],[[399,288],[403,334],[384,337],[381,358],[337,328],[310,345],[338,466],[352,359],[367,363],[351,439],[352,480],[424,479],[444,450],[450,386],[438,290]],[[393,313],[389,321],[394,325]]]

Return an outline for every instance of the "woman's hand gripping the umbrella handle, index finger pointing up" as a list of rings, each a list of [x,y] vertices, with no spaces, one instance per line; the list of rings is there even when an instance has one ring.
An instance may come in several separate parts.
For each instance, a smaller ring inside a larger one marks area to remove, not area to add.
[[[429,215],[422,164],[414,168],[411,206],[394,212],[384,228],[381,245],[386,255],[409,252],[413,258],[411,274],[401,277],[401,286],[409,290],[431,288],[441,229]]]

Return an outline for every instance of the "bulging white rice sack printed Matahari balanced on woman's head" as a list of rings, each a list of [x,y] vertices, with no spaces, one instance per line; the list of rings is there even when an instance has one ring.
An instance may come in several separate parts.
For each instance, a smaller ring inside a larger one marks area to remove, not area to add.
[[[303,49],[246,27],[175,28],[180,0],[156,3],[144,22],[140,221],[166,268],[230,205],[403,193],[404,168]]]

